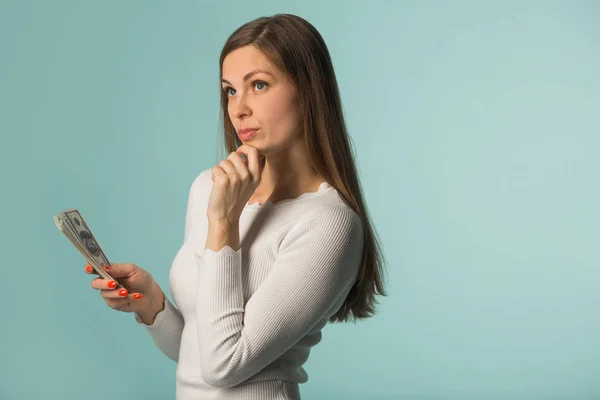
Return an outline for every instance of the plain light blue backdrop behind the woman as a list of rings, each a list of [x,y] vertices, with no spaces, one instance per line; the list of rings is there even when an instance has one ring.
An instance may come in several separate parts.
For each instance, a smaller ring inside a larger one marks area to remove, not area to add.
[[[0,399],[174,398],[52,217],[168,288],[221,47],[281,12],[329,46],[390,293],[303,398],[600,398],[599,4],[1,0]]]

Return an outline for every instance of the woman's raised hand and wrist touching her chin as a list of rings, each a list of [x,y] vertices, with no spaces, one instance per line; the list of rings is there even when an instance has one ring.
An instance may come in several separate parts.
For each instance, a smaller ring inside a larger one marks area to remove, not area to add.
[[[212,168],[213,187],[206,210],[209,222],[239,223],[246,203],[260,184],[262,161],[264,157],[256,147],[244,144]]]

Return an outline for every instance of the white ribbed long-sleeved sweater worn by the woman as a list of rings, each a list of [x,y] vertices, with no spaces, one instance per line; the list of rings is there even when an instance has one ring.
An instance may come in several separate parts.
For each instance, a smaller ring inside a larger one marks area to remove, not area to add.
[[[135,320],[178,363],[177,400],[299,399],[302,365],[356,279],[360,217],[323,182],[294,199],[247,203],[241,248],[215,252],[204,247],[211,188],[210,169],[190,188],[169,274],[174,302],[152,325]]]

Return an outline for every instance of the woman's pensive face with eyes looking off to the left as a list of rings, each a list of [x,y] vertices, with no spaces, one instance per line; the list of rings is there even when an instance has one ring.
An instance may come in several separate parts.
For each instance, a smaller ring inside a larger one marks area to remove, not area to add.
[[[221,86],[228,98],[227,112],[243,144],[269,154],[297,143],[299,104],[291,81],[253,46],[229,53],[223,60]],[[242,139],[241,129],[258,128]]]

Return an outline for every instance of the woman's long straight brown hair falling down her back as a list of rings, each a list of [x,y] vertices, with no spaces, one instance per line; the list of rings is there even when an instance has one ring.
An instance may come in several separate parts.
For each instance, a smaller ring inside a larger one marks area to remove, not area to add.
[[[338,84],[325,41],[314,26],[296,15],[257,18],[239,27],[227,39],[219,59],[220,78],[225,57],[231,51],[249,45],[260,50],[295,84],[300,98],[304,145],[313,168],[342,195],[363,223],[363,258],[357,280],[344,304],[329,321],[356,322],[369,318],[375,314],[376,295],[387,296],[382,276],[384,260],[363,200]],[[231,120],[226,118],[227,94],[219,89],[225,148],[232,153],[241,142]]]

